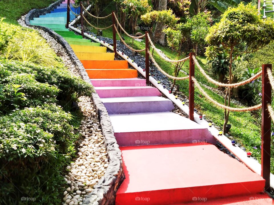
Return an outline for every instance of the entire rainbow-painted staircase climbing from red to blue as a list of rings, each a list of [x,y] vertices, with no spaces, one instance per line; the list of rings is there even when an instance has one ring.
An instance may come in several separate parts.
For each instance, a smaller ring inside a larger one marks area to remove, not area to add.
[[[126,176],[117,205],[273,204],[261,194],[264,179],[219,151],[207,128],[171,112],[172,101],[137,78],[127,61],[66,29],[67,1],[31,24],[67,40],[108,110]]]

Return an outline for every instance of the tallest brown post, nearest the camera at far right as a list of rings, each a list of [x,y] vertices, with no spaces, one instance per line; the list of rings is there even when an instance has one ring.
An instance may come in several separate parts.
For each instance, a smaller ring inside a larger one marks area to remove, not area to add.
[[[270,145],[271,145],[271,118],[267,103],[271,104],[271,85],[267,75],[267,68],[272,70],[272,64],[262,65],[262,149],[261,149],[261,176],[265,179],[265,190],[270,191]]]

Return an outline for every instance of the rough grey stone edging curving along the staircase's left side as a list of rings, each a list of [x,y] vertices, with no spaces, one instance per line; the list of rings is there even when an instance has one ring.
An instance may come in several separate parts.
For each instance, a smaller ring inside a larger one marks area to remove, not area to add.
[[[57,42],[60,43],[67,51],[68,56],[78,69],[82,79],[85,82],[91,84],[90,78],[88,77],[86,70],[84,69],[80,60],[74,54],[74,51],[67,43],[67,41],[53,30],[43,26],[31,25],[29,22],[29,20],[33,19],[34,17],[39,17],[39,15],[49,13],[51,10],[57,7],[57,5],[59,5],[62,1],[63,0],[58,0],[55,3],[49,5],[49,7],[45,9],[31,10],[25,17],[25,23],[27,26],[42,29],[45,32],[48,32],[55,40],[57,40]],[[108,112],[97,93],[92,94],[92,102],[94,103],[96,107],[96,112],[99,115],[100,125],[102,127],[102,134],[104,136],[105,146],[108,152],[109,165],[106,169],[106,173],[94,186],[94,190],[91,192],[91,194],[86,195],[86,199],[83,201],[82,205],[115,204],[116,191],[125,179],[122,163],[122,153],[119,149],[119,145],[117,144],[116,138],[114,137],[114,132],[112,129]]]

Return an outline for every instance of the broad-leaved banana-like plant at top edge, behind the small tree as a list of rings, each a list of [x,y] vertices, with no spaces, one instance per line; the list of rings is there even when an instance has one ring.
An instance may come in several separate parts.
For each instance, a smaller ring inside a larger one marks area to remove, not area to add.
[[[189,7],[189,13],[191,16],[197,15],[199,12],[204,12],[208,4],[213,5],[216,9],[221,12],[225,12],[227,7],[223,4],[226,3],[230,6],[237,6],[241,0],[191,0]]]

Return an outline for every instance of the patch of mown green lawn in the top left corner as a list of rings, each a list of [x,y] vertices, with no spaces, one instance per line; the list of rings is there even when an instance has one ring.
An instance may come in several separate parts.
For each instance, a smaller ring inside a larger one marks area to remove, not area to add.
[[[1,0],[0,17],[5,17],[6,22],[18,24],[17,20],[30,10],[43,9],[54,2],[55,0]]]

